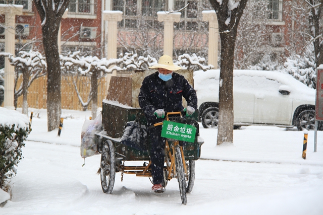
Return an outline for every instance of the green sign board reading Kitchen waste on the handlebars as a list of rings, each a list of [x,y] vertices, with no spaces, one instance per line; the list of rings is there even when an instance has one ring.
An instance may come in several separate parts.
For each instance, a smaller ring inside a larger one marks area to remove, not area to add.
[[[196,127],[183,123],[164,121],[161,136],[187,142],[194,142]]]

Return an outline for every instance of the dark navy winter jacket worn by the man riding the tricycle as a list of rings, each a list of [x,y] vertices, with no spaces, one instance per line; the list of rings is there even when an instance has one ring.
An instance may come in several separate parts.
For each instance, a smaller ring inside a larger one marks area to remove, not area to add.
[[[158,77],[158,71],[147,76],[142,82],[138,101],[148,125],[164,120],[153,115],[157,109],[166,112],[183,110],[182,96],[188,106],[197,109],[196,92],[184,76],[173,72],[172,79],[167,82]]]

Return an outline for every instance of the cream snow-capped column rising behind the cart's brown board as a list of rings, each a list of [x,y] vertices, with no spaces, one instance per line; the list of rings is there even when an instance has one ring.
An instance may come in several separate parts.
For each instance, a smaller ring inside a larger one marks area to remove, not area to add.
[[[107,21],[107,53],[106,58],[117,58],[117,24],[118,21],[122,20],[122,11],[103,11],[102,19]],[[113,71],[112,74],[106,76],[107,88],[109,89],[109,84],[111,76],[116,76],[117,71]]]

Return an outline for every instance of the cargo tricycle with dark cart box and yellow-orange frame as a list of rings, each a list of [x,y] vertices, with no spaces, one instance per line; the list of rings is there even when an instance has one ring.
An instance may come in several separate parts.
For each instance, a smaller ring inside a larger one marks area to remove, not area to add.
[[[179,182],[180,196],[183,204],[186,204],[186,193],[190,193],[194,186],[195,160],[200,157],[200,149],[203,144],[199,137],[197,111],[192,117],[183,117],[181,112],[167,113],[165,121],[175,121],[183,125],[191,125],[196,128],[196,133],[191,141],[182,141],[174,138],[166,138],[165,166],[163,187],[167,182],[177,178]],[[146,139],[147,150],[141,151],[122,144],[121,137],[127,122],[138,120],[145,125],[145,117],[140,108],[120,105],[114,101],[103,100],[102,127],[103,130],[95,134],[95,142],[101,153],[100,174],[101,186],[104,193],[113,191],[116,172],[121,172],[121,180],[124,174],[151,177],[149,158],[149,138]],[[164,122],[165,122],[164,121]],[[157,123],[154,126],[162,126]],[[163,127],[164,129],[164,127]],[[143,161],[142,166],[127,166],[126,161]]]

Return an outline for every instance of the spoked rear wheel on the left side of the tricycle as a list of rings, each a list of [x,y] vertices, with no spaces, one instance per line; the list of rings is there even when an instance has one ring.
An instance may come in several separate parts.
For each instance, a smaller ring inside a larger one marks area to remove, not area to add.
[[[115,185],[116,157],[111,140],[104,141],[101,153],[101,186],[106,194],[110,194]]]

